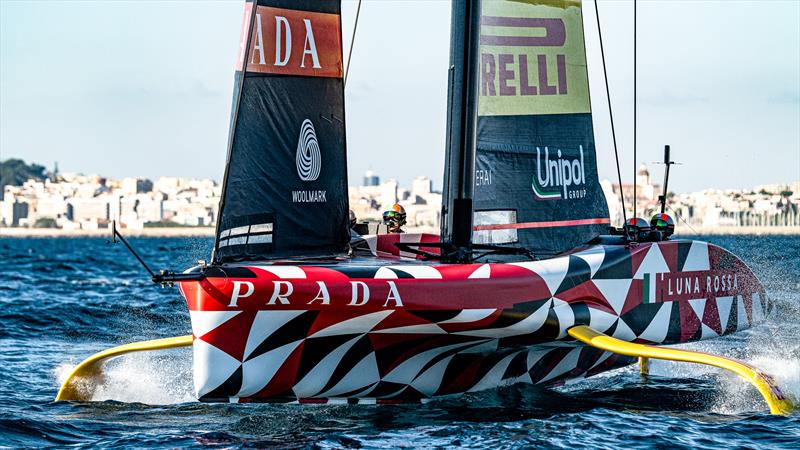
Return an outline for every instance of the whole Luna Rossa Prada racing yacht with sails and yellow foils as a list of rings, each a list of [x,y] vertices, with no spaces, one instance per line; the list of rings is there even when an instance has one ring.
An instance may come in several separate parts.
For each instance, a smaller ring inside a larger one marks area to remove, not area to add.
[[[212,260],[153,274],[192,335],[98,353],[57,399],[90,400],[116,356],[191,346],[207,402],[420,401],[660,358],[732,370],[788,412],[746,363],[652,346],[772,303],[667,216],[610,226],[583,33],[580,0],[453,0],[441,235],[351,246],[340,1],[248,0]]]

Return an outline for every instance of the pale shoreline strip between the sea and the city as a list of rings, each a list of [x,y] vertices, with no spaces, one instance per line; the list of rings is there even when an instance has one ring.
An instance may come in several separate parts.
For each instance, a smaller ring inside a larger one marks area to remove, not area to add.
[[[143,229],[122,229],[126,237],[213,237],[214,227],[163,227]],[[436,233],[431,227],[420,229],[409,228],[408,232]],[[800,227],[703,227],[689,229],[678,226],[676,236],[709,236],[709,235],[751,235],[751,236],[800,236]],[[58,228],[0,228],[0,238],[74,238],[74,237],[110,237],[111,232],[104,230],[63,230]]]

